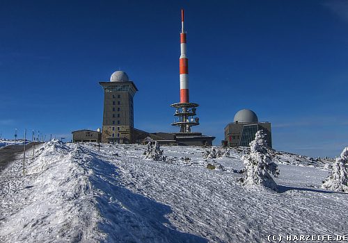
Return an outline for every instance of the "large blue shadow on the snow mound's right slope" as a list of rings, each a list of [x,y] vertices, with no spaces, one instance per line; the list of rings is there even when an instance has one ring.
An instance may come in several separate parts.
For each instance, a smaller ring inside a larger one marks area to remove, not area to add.
[[[97,208],[104,220],[99,228],[107,234],[105,242],[207,242],[202,237],[177,231],[165,215],[170,206],[136,194],[120,185],[117,167],[100,160],[90,151],[93,160],[90,176],[95,189]]]

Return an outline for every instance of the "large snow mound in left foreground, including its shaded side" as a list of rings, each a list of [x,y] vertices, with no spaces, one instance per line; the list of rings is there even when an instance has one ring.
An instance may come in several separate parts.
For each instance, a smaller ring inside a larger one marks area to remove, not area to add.
[[[79,144],[48,142],[25,176],[19,162],[2,178],[0,241],[200,242],[170,226],[170,207],[122,187],[116,169]]]

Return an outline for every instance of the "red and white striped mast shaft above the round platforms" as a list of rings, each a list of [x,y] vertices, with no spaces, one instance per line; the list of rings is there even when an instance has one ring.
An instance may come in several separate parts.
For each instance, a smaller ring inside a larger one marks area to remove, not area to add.
[[[186,56],[183,9],[181,10],[180,50],[180,103],[189,103],[189,59]]]

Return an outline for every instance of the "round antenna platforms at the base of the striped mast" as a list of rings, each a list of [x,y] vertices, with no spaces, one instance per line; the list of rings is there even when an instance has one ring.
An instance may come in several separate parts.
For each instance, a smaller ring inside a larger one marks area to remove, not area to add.
[[[199,125],[199,118],[195,117],[198,103],[173,103],[171,107],[176,108],[175,119],[172,126],[179,126],[180,133],[191,133],[191,126]]]

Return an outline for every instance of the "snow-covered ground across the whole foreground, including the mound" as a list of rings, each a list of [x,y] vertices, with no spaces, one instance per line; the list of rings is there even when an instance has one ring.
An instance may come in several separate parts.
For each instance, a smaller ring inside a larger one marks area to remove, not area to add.
[[[267,235],[347,235],[348,194],[320,189],[324,163],[274,153],[280,192],[244,187],[240,161],[203,148],[48,142],[0,174],[0,242],[267,242]],[[186,160],[185,160],[186,158]],[[190,158],[190,159],[188,159]],[[287,162],[285,161],[287,160]],[[223,169],[206,169],[207,164]]]

